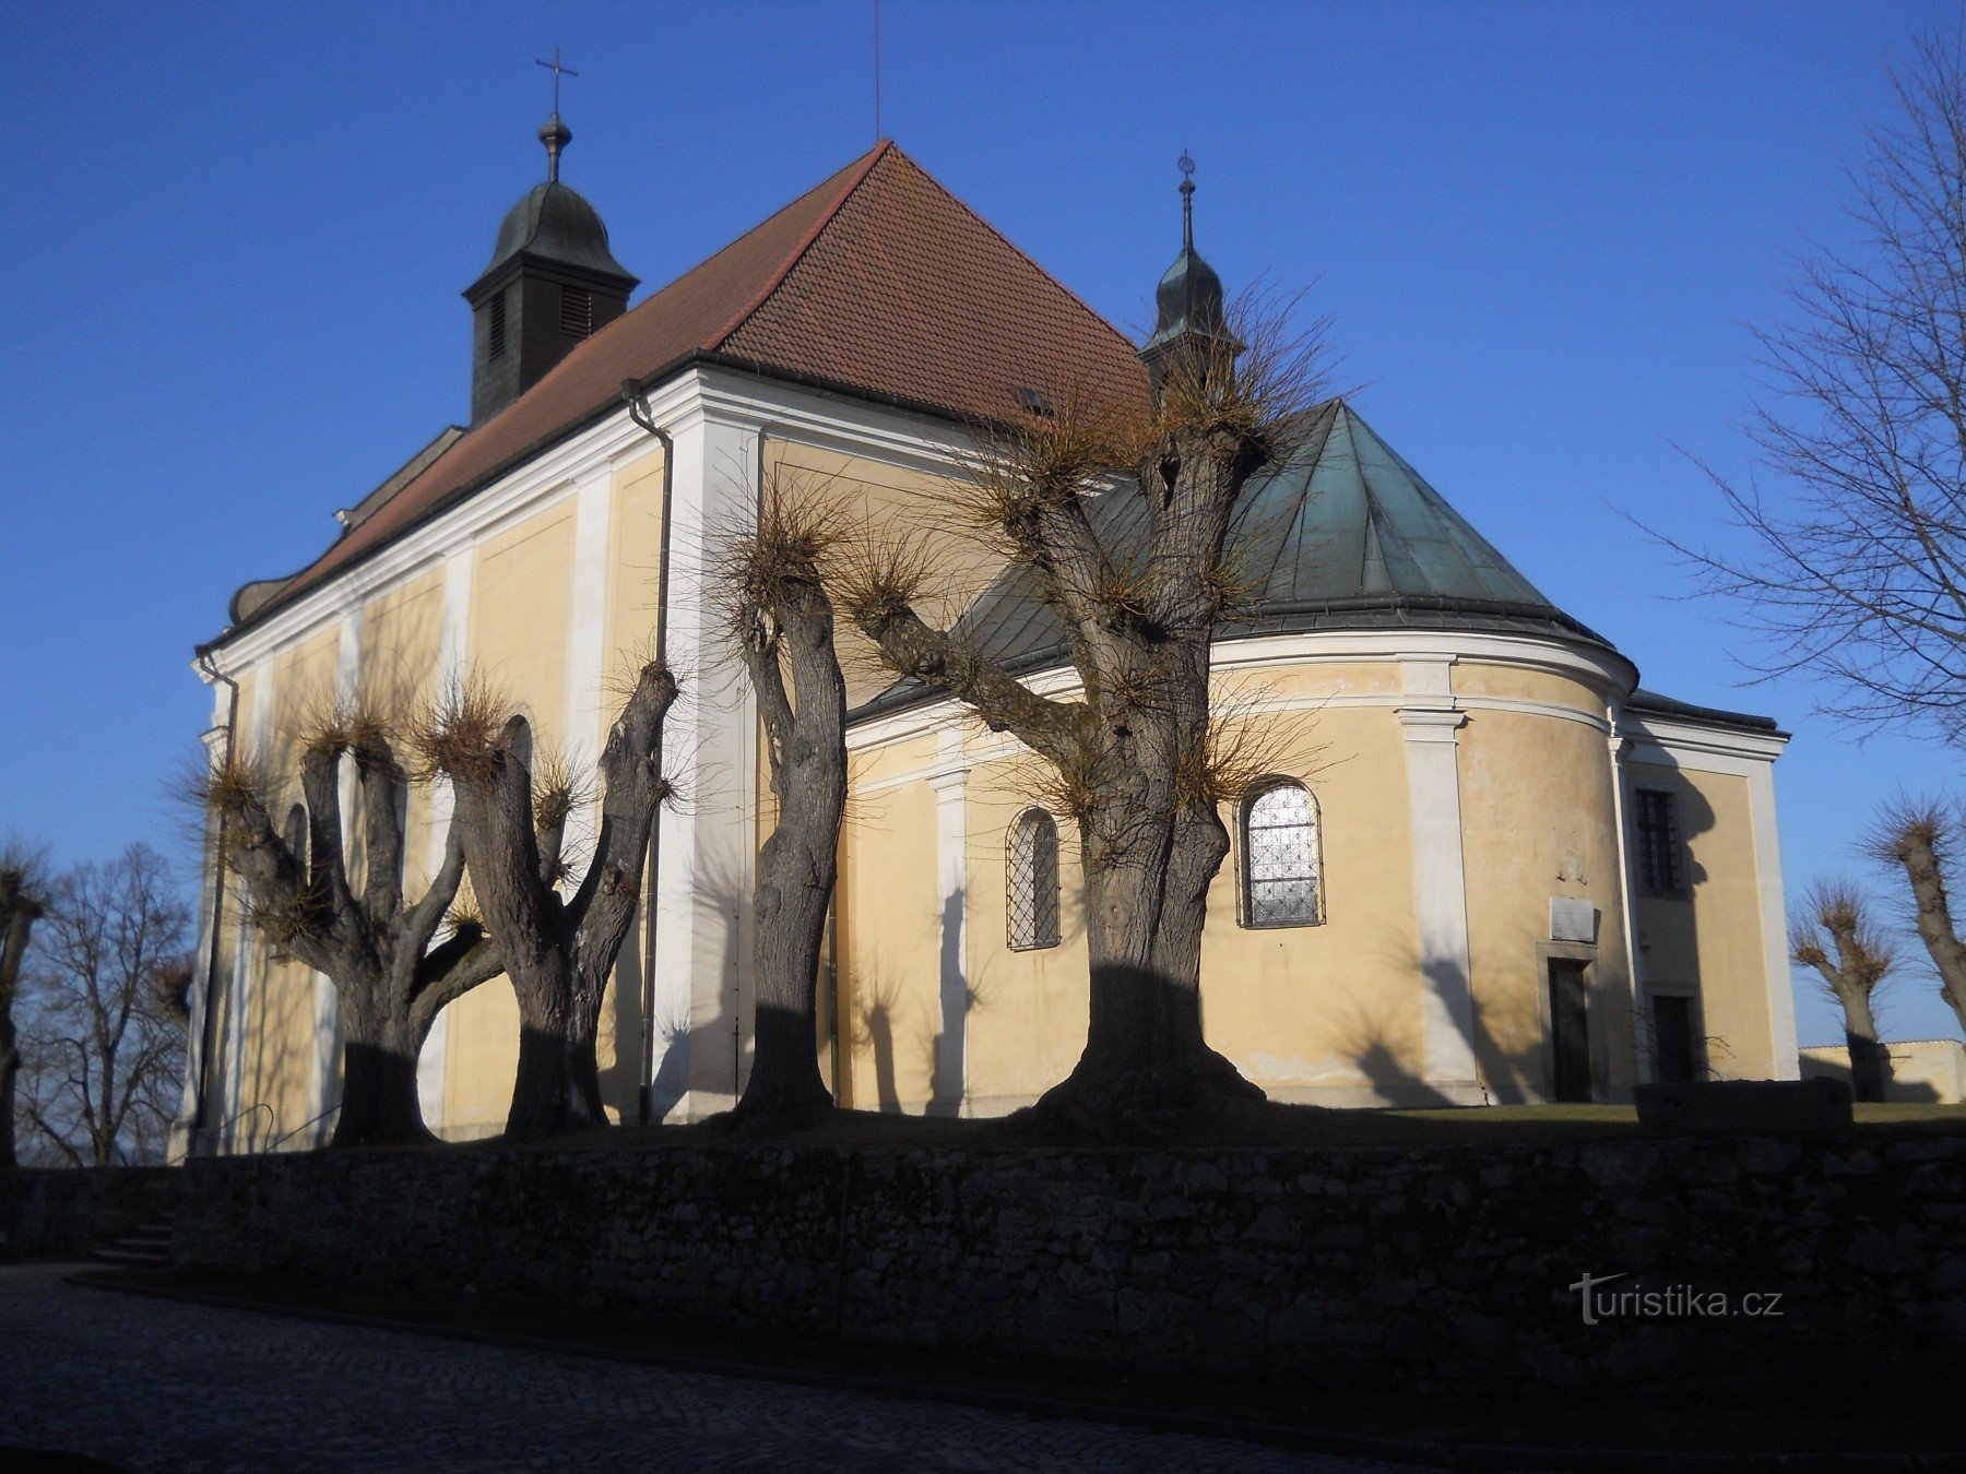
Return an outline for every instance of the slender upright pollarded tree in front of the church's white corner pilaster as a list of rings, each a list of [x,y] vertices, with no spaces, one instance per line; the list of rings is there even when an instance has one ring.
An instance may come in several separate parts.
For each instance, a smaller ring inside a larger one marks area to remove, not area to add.
[[[814,497],[775,485],[757,529],[727,539],[714,570],[731,641],[757,692],[777,798],[753,888],[757,1046],[737,1101],[739,1122],[796,1120],[834,1106],[820,1077],[816,1010],[847,798],[847,688],[820,566],[839,531],[838,517]]]

